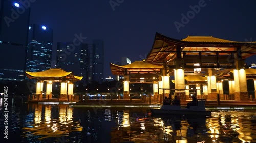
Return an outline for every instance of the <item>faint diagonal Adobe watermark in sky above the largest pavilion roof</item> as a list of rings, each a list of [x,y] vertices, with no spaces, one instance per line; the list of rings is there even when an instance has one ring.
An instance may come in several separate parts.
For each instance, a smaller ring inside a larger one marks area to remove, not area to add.
[[[210,1],[210,0],[209,0]],[[174,22],[174,25],[176,27],[176,30],[178,32],[180,32],[180,28],[181,27],[185,27],[186,24],[189,23],[190,19],[193,19],[196,14],[198,14],[201,10],[201,8],[205,7],[206,6],[206,3],[204,0],[199,0],[198,2],[198,5],[195,5],[195,6],[189,6],[189,8],[191,9],[190,11],[187,12],[187,14],[181,14],[181,23],[178,22],[178,21],[175,21]]]

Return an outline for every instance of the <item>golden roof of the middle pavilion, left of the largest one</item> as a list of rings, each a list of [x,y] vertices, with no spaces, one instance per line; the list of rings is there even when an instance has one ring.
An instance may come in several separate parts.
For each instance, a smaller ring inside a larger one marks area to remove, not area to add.
[[[127,73],[157,73],[160,72],[163,66],[154,65],[144,61],[135,61],[131,64],[119,66],[110,63],[110,69],[114,75],[124,75]]]

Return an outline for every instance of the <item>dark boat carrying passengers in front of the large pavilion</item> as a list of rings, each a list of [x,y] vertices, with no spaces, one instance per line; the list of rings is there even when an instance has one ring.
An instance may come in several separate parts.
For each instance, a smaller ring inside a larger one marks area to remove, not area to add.
[[[181,106],[162,105],[160,109],[150,109],[152,116],[154,115],[203,115],[210,116],[211,111],[205,109],[206,100],[198,100],[197,106],[189,108],[181,108]]]

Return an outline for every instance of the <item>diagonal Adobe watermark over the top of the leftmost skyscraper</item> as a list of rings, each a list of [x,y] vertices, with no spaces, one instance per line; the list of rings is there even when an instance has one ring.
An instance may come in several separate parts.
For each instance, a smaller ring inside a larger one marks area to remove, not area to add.
[[[5,23],[8,27],[10,27],[10,23],[14,22],[16,19],[19,18],[20,14],[23,14],[25,12],[25,9],[28,9],[31,5],[31,3],[35,2],[36,0],[20,0],[18,3],[15,3],[16,10],[11,9],[11,17],[4,17]]]

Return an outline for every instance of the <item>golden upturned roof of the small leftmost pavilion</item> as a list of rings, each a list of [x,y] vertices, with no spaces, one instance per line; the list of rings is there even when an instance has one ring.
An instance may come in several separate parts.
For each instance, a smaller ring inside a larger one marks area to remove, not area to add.
[[[39,79],[39,80],[71,80],[71,81],[79,81],[83,77],[75,76],[73,72],[66,72],[62,69],[49,69],[40,72],[27,72],[25,74],[29,79]]]

